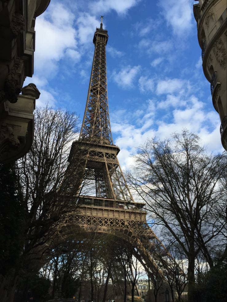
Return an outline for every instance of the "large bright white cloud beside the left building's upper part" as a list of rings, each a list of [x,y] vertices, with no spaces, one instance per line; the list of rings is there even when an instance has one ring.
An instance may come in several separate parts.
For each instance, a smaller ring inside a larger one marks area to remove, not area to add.
[[[37,18],[34,67],[37,74],[53,77],[65,50],[76,48],[73,20],[74,15],[59,3],[51,6],[47,14]]]

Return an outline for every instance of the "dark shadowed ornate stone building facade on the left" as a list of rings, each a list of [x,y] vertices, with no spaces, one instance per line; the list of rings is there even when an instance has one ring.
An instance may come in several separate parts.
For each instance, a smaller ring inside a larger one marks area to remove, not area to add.
[[[32,77],[35,21],[50,0],[0,0],[0,161],[22,157],[33,142],[33,110],[40,93]],[[20,92],[22,91],[22,94]]]

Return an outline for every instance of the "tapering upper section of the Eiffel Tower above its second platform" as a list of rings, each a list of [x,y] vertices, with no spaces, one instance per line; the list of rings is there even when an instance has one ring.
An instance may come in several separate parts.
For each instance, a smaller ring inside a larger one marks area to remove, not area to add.
[[[87,103],[80,131],[80,138],[113,145],[107,96],[106,43],[107,30],[100,28],[94,33],[94,58],[87,94]]]

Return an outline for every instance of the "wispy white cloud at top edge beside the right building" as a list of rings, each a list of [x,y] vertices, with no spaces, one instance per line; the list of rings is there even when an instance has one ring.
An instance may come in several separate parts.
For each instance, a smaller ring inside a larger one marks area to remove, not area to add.
[[[159,5],[163,9],[163,16],[171,25],[177,36],[187,36],[192,27],[192,3],[190,0],[161,0]]]

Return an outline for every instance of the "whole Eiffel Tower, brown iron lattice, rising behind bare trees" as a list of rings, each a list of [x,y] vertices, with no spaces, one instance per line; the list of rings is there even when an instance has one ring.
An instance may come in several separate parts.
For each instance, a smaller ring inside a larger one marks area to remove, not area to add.
[[[85,231],[112,232],[131,242],[139,248],[139,260],[149,271],[156,267],[155,249],[163,257],[169,255],[147,224],[145,204],[133,200],[117,159],[120,148],[113,143],[108,109],[107,41],[108,33],[103,29],[101,17],[100,28],[96,28],[93,38],[94,58],[83,123],[79,140],[72,143],[69,154],[71,162],[78,144],[85,150],[81,192],[86,185],[89,191],[78,193],[79,210],[68,217],[68,223]]]

